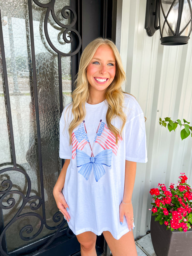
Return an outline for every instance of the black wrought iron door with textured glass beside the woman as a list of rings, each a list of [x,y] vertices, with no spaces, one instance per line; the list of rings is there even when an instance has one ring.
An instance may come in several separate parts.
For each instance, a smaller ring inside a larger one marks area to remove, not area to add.
[[[0,1],[3,256],[68,256],[80,250],[52,195],[62,167],[58,128],[63,107],[71,102],[82,48],[106,36],[107,9],[112,9],[107,2]],[[85,26],[93,30],[88,34]],[[103,242],[97,239],[102,248]]]

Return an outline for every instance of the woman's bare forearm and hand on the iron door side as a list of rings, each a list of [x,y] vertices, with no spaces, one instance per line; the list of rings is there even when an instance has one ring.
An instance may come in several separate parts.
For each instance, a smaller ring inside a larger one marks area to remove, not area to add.
[[[65,201],[65,197],[63,196],[63,193],[61,192],[61,190],[63,189],[63,186],[65,184],[65,176],[66,176],[66,172],[67,172],[69,163],[70,163],[70,159],[66,159],[65,163],[63,165],[63,168],[61,170],[61,173],[60,173],[60,175],[57,179],[57,182],[55,184],[55,187],[53,189],[53,195],[54,195],[57,207],[59,208],[59,210],[62,212],[62,214],[66,218],[67,222],[69,222],[69,220],[70,220],[70,216],[68,214],[69,206],[67,205],[67,203]]]

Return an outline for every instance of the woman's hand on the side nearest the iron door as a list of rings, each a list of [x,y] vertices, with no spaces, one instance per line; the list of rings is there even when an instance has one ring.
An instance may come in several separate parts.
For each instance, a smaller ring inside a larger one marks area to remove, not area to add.
[[[67,205],[67,203],[65,201],[65,197],[63,196],[63,193],[59,190],[54,189],[53,195],[55,197],[55,201],[56,201],[57,207],[59,208],[59,211],[66,218],[67,222],[69,222],[69,220],[70,220],[70,215],[68,214],[69,206]]]

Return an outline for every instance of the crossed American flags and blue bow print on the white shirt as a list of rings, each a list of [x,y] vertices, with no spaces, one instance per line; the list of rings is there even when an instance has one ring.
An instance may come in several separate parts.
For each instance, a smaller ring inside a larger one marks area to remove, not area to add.
[[[93,146],[89,142],[85,121],[79,128],[72,133],[72,159],[77,155],[77,167],[81,167],[79,173],[88,180],[93,169],[95,180],[98,180],[105,174],[104,166],[111,167],[112,153],[117,154],[122,138],[118,138],[118,144],[115,144],[115,136],[108,129],[106,124],[100,120],[99,126],[96,131]],[[104,150],[93,155],[94,144],[98,143]],[[82,151],[83,147],[89,144],[91,149],[91,157]]]

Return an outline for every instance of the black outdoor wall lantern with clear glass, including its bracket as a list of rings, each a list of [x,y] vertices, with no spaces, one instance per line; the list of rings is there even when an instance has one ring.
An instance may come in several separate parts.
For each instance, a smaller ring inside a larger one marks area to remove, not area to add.
[[[162,45],[185,45],[192,30],[192,0],[147,0],[145,29],[159,29]],[[159,24],[159,26],[158,26]]]

